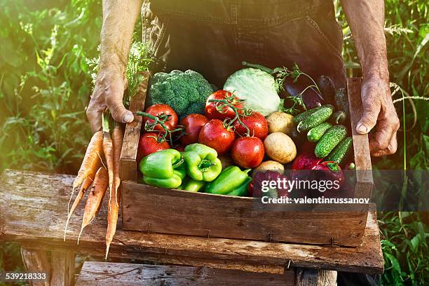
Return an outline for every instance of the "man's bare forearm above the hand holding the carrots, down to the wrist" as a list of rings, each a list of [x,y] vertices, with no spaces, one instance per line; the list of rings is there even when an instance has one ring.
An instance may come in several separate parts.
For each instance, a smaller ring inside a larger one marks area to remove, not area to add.
[[[103,0],[100,70],[118,69],[125,76],[135,22],[142,0]]]

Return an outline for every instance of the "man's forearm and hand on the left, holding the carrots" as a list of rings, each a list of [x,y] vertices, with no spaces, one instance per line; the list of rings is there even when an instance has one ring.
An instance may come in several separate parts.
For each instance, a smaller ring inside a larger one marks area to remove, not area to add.
[[[129,123],[134,120],[132,113],[123,107],[122,100],[132,32],[140,8],[142,0],[103,0],[99,71],[86,109],[93,132],[101,129],[101,116],[106,107],[115,121]]]

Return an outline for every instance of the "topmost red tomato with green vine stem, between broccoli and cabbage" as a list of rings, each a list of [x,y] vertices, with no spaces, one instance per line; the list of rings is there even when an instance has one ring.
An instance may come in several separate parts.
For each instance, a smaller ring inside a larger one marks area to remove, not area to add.
[[[236,113],[231,107],[224,107],[221,112],[217,110],[217,105],[219,107],[219,104],[222,103],[217,104],[216,102],[209,102],[209,100],[224,100],[226,97],[231,97],[232,95],[233,93],[226,90],[218,90],[212,93],[205,102],[205,116],[209,119],[219,119],[222,121],[225,118],[233,119],[236,117]],[[238,101],[238,97],[236,97],[235,100],[232,100],[231,104],[238,109],[243,109],[243,103]]]

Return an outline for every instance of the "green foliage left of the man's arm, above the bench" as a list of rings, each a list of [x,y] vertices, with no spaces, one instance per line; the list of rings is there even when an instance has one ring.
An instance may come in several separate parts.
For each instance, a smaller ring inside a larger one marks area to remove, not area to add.
[[[100,2],[3,1],[0,170],[79,166],[90,136],[82,128],[92,89],[86,57],[97,54]]]

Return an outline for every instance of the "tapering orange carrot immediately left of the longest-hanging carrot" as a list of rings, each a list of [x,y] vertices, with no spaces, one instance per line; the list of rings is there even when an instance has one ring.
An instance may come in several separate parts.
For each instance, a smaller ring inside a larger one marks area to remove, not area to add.
[[[81,238],[83,229],[93,221],[98,210],[100,210],[100,205],[106,193],[107,186],[109,184],[109,175],[107,170],[104,167],[100,167],[95,174],[95,179],[93,186],[91,186],[91,191],[86,199],[85,211],[83,212],[81,232],[78,237]]]

